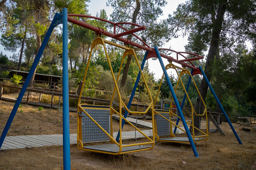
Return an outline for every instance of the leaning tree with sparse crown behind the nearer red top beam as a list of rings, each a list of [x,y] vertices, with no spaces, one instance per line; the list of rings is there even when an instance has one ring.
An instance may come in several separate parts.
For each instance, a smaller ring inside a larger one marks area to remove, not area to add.
[[[131,22],[145,25],[147,28],[146,31],[138,32],[136,34],[142,37],[143,41],[147,42],[150,46],[161,46],[164,42],[169,40],[166,21],[157,21],[158,17],[162,15],[161,7],[165,4],[166,2],[164,0],[108,0],[107,6],[110,5],[114,9],[113,13],[110,15],[113,22]],[[130,29],[133,28],[134,26],[130,26]],[[132,35],[128,35],[127,38],[136,41]],[[132,56],[128,55],[121,79],[121,86],[124,86],[125,84],[131,59]]]

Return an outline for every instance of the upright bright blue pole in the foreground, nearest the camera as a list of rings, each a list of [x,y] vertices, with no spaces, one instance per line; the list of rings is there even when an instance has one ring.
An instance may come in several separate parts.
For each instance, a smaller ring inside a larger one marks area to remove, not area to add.
[[[69,136],[69,93],[68,93],[68,55],[67,55],[67,9],[63,9],[62,40],[62,84],[63,84],[63,167],[70,169],[70,136]]]

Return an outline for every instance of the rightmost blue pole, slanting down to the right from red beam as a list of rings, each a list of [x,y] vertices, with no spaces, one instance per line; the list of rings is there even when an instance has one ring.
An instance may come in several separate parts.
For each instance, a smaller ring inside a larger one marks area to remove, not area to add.
[[[222,105],[221,105],[221,103],[220,103],[220,101],[219,101],[217,95],[215,94],[215,92],[214,92],[214,90],[213,90],[213,88],[212,88],[212,86],[211,86],[209,80],[207,79],[207,77],[206,77],[206,75],[205,75],[205,73],[204,73],[202,67],[199,66],[199,69],[200,69],[201,73],[203,74],[206,83],[208,84],[209,88],[211,89],[212,94],[213,94],[213,96],[214,96],[216,102],[218,103],[218,105],[219,105],[219,107],[220,107],[222,113],[224,114],[224,116],[225,116],[225,118],[226,118],[226,120],[227,120],[229,126],[231,127],[231,129],[232,129],[232,131],[233,131],[233,133],[234,133],[234,135],[235,135],[237,141],[239,142],[239,144],[242,144],[242,142],[241,142],[240,138],[238,137],[238,135],[237,135],[237,133],[236,133],[236,131],[235,131],[235,129],[234,129],[232,123],[230,122],[230,120],[229,120],[229,118],[228,118],[228,116],[227,116],[227,113],[225,112],[224,108],[222,107]]]

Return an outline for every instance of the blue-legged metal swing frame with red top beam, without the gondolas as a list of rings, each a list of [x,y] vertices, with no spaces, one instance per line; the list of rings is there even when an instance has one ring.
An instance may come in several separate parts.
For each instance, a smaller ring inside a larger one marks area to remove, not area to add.
[[[104,22],[108,22],[108,23],[114,25],[114,34],[112,34],[110,32],[107,32],[107,31],[105,31],[105,30],[103,30],[103,29],[101,29],[99,27],[95,27],[95,26],[89,25],[87,23],[84,23],[82,21],[76,20],[76,19],[74,19],[72,17],[87,17],[87,18],[92,18],[92,19],[97,19],[97,20],[101,20],[101,21],[104,21]],[[161,68],[163,70],[164,76],[166,78],[167,84],[169,86],[170,92],[173,95],[175,95],[175,92],[174,92],[174,89],[172,87],[172,84],[170,83],[170,80],[168,78],[166,70],[164,69],[164,65],[163,65],[163,62],[162,62],[162,59],[161,59],[161,57],[163,57],[163,58],[168,59],[170,61],[179,63],[182,66],[186,66],[188,68],[191,68],[192,71],[194,70],[194,72],[201,72],[203,74],[203,77],[204,77],[205,81],[207,82],[207,84],[208,84],[212,94],[214,95],[218,105],[220,106],[220,108],[222,110],[222,113],[224,114],[227,122],[229,123],[229,125],[230,125],[230,127],[231,127],[231,129],[232,129],[232,131],[233,131],[237,141],[239,142],[239,144],[242,144],[242,142],[241,142],[239,136],[237,135],[233,125],[231,124],[231,122],[230,122],[230,120],[229,120],[225,110],[223,109],[219,99],[217,98],[217,96],[216,96],[216,94],[215,94],[215,92],[214,92],[210,82],[208,81],[204,71],[202,70],[202,68],[200,66],[199,66],[199,68],[197,68],[197,67],[195,67],[190,62],[190,61],[194,60],[193,58],[192,59],[185,58],[183,60],[178,60],[178,55],[181,54],[180,52],[173,51],[173,52],[177,53],[177,59],[175,59],[173,57],[166,56],[164,54],[159,53],[159,50],[163,50],[163,49],[158,49],[157,47],[155,47],[154,49],[150,48],[145,42],[143,42],[139,37],[137,37],[134,34],[137,31],[144,30],[145,26],[140,26],[140,25],[137,25],[137,24],[129,23],[130,25],[134,25],[137,28],[132,29],[132,30],[128,30],[128,29],[125,29],[124,27],[120,26],[120,24],[128,24],[128,23],[113,23],[113,22],[110,22],[110,21],[107,21],[107,20],[104,20],[104,19],[100,19],[100,18],[97,18],[97,17],[92,17],[92,16],[67,14],[67,9],[64,8],[62,12],[55,14],[55,16],[54,16],[54,18],[52,20],[52,23],[51,23],[51,25],[50,25],[50,27],[49,27],[46,35],[45,35],[45,38],[44,38],[44,40],[42,42],[42,45],[41,45],[41,47],[40,47],[40,49],[39,49],[39,51],[38,51],[38,53],[37,53],[37,55],[35,57],[35,60],[34,60],[34,62],[32,64],[32,66],[31,66],[31,69],[30,69],[30,71],[28,73],[28,76],[27,76],[25,82],[24,82],[24,85],[23,85],[23,87],[21,89],[21,92],[20,92],[20,94],[19,94],[19,96],[18,96],[18,98],[17,98],[17,100],[15,102],[15,105],[13,107],[13,110],[12,110],[11,114],[10,114],[10,117],[9,117],[7,123],[6,123],[6,126],[5,126],[2,134],[1,134],[1,137],[0,137],[0,148],[3,145],[5,137],[6,137],[7,133],[8,133],[8,130],[9,130],[11,124],[12,124],[12,121],[13,121],[13,119],[15,117],[15,114],[16,114],[16,112],[18,110],[18,107],[19,107],[19,105],[21,103],[21,100],[22,100],[22,98],[23,98],[23,96],[24,96],[24,94],[26,92],[28,84],[29,84],[29,82],[31,80],[31,77],[32,77],[32,75],[33,75],[33,73],[34,73],[34,71],[36,69],[36,66],[37,66],[37,64],[38,64],[38,62],[39,62],[39,60],[41,58],[41,55],[42,55],[42,53],[43,53],[43,51],[44,51],[44,49],[45,49],[45,47],[46,47],[46,45],[48,43],[48,40],[50,38],[50,35],[51,35],[53,29],[57,25],[63,24],[63,30],[62,30],[63,31],[63,52],[62,52],[62,55],[63,55],[63,58],[62,58],[62,60],[63,60],[63,70],[62,70],[62,76],[63,76],[63,79],[62,79],[62,81],[63,81],[63,168],[64,169],[70,169],[70,135],[69,135],[69,101],[68,101],[68,99],[69,99],[69,94],[68,94],[68,36],[67,36],[68,35],[67,34],[67,23],[68,22],[73,23],[73,24],[78,25],[78,26],[81,26],[83,28],[87,28],[89,30],[92,30],[92,31],[98,33],[98,34],[104,34],[104,35],[106,35],[108,37],[111,37],[113,39],[116,39],[118,41],[123,42],[125,45],[129,44],[129,45],[135,46],[135,47],[137,47],[139,49],[142,49],[142,50],[146,51],[144,59],[143,59],[142,64],[141,64],[141,69],[139,71],[138,77],[136,79],[136,82],[135,82],[135,85],[134,85],[134,88],[133,88],[133,91],[132,91],[132,95],[130,97],[129,103],[127,104],[127,108],[129,108],[130,105],[131,105],[132,98],[134,96],[134,93],[135,93],[135,90],[136,90],[136,87],[138,85],[138,81],[139,81],[139,78],[140,78],[140,72],[142,71],[142,69],[144,67],[145,61],[147,59],[149,59],[149,58],[158,58],[159,63],[161,64]],[[125,30],[125,32],[120,33],[120,34],[116,34],[116,27],[119,27],[119,28]],[[133,36],[135,36],[145,46],[142,46],[140,44],[132,42],[131,40],[122,38],[122,36],[125,36],[125,35],[128,35],[128,34],[132,34]],[[169,51],[172,51],[172,50],[169,50]],[[186,54],[190,54],[190,53],[186,53]],[[199,59],[203,59],[204,58],[204,57],[199,56],[199,55],[196,55],[196,56],[198,56]],[[195,60],[197,60],[197,59],[195,59]],[[185,63],[187,61],[189,61],[191,65]],[[179,103],[177,98],[174,98],[174,101],[175,101],[176,104]],[[184,119],[184,116],[182,114],[182,110],[181,110],[180,105],[177,105],[177,110],[178,110],[178,112],[179,112],[179,114],[181,116],[181,120],[183,121],[183,124],[186,124],[184,122],[185,119]],[[128,111],[126,110],[125,111],[125,115],[123,116],[122,127],[123,127],[123,124],[125,122],[125,118],[126,118],[127,114],[128,114]],[[120,128],[120,130],[121,130],[121,128]],[[187,126],[185,126],[185,130],[189,131]],[[120,137],[120,134],[118,134],[116,141],[119,140],[119,137]],[[189,137],[189,140],[190,140],[190,143],[191,143],[191,146],[192,146],[192,149],[193,149],[193,152],[194,152],[195,156],[199,156],[191,136]]]

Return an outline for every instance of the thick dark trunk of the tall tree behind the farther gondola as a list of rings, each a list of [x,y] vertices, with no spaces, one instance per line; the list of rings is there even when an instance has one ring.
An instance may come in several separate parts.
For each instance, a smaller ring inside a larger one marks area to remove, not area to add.
[[[215,18],[215,13],[212,14],[212,24],[213,24],[212,38],[211,38],[210,48],[208,51],[208,55],[207,55],[207,59],[206,59],[206,63],[205,63],[205,70],[204,70],[205,75],[209,81],[212,78],[213,68],[211,67],[211,65],[213,64],[213,61],[216,56],[216,51],[218,49],[220,32],[221,32],[222,24],[224,21],[225,11],[226,11],[226,5],[222,4],[222,5],[219,5],[219,7],[218,7],[218,12],[217,12],[216,18]],[[207,96],[207,91],[208,91],[208,85],[204,78],[201,81],[199,91],[201,92],[201,96],[202,96],[203,100],[205,101],[206,96]],[[198,95],[198,100],[197,100],[196,106],[195,106],[196,113],[201,113],[203,111],[202,110],[203,104],[202,104],[202,102],[200,104],[200,101],[201,101],[200,96]],[[199,109],[200,109],[200,112],[199,112]],[[200,125],[201,125],[201,116],[196,116],[194,114],[194,126],[200,129]],[[190,130],[192,130],[192,127],[190,127]],[[199,133],[199,131],[195,130],[195,134],[198,134],[198,133]]]

